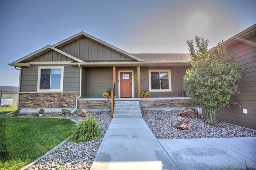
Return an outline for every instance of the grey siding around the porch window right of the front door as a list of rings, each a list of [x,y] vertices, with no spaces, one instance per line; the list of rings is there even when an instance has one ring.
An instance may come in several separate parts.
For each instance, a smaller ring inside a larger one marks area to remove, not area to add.
[[[183,76],[186,74],[186,70],[191,68],[190,66],[171,66],[171,67],[156,67],[156,68],[148,68],[148,67],[140,67],[140,86],[141,91],[146,89],[149,90],[148,84],[148,70],[149,69],[170,69],[171,70],[171,81],[172,81],[172,92],[150,92],[150,98],[154,97],[181,97],[180,89],[183,87]]]

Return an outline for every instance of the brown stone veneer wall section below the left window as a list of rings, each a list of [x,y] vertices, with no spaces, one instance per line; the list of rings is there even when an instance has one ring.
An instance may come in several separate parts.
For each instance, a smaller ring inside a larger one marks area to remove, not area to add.
[[[75,108],[79,92],[20,93],[19,108]]]

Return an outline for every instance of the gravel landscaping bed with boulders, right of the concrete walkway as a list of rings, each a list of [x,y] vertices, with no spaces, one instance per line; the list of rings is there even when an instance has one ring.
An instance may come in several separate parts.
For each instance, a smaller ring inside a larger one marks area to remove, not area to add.
[[[181,117],[179,112],[142,111],[142,118],[157,139],[256,137],[256,131],[221,121],[216,121],[216,127],[212,127],[201,114],[198,114],[198,118],[188,118],[190,130],[175,129],[172,124]]]

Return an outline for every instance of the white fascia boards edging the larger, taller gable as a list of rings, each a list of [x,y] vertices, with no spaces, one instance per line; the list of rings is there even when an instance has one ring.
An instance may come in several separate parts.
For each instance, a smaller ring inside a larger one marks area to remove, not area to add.
[[[60,41],[60,42],[58,42],[58,43],[56,43],[56,44],[54,44],[54,45],[52,45],[52,46],[53,46],[53,47],[56,47],[56,46],[58,46],[58,45],[61,45],[62,43],[65,43],[65,42],[67,42],[67,41],[70,41],[71,39],[74,39],[75,37],[78,37],[78,36],[80,36],[80,35],[83,35],[84,37],[87,37],[87,38],[89,38],[89,39],[92,39],[92,40],[94,40],[94,41],[96,41],[96,42],[98,42],[98,43],[100,43],[100,44],[102,44],[102,45],[104,45],[104,46],[106,46],[106,47],[109,47],[110,49],[113,49],[113,50],[118,51],[118,52],[120,52],[120,53],[122,53],[122,54],[124,54],[124,55],[126,55],[126,56],[128,56],[128,57],[131,57],[132,59],[135,59],[135,60],[137,60],[137,61],[144,61],[144,60],[142,60],[142,59],[140,59],[140,58],[138,58],[138,57],[135,57],[134,55],[131,55],[130,53],[127,53],[126,51],[123,51],[123,50],[121,50],[121,49],[115,47],[114,45],[111,45],[111,44],[109,44],[109,43],[106,43],[105,41],[102,41],[101,39],[98,39],[98,38],[96,38],[96,37],[94,37],[94,36],[92,36],[92,35],[89,35],[89,34],[83,32],[83,31],[80,32],[80,33],[77,33],[76,35],[73,35],[72,37],[69,37],[69,38],[67,38],[67,39],[64,39],[63,41]]]

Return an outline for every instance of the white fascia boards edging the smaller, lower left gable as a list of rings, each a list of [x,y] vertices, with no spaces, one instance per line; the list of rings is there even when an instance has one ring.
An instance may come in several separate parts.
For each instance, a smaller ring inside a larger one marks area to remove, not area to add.
[[[65,56],[67,56],[67,57],[77,61],[77,62],[84,63],[84,61],[82,61],[82,60],[80,60],[80,59],[78,59],[78,58],[76,58],[76,57],[74,57],[74,56],[72,56],[72,55],[70,55],[68,53],[65,53],[64,51],[56,49],[55,47],[52,47],[51,45],[47,45],[46,47],[43,47],[42,49],[39,49],[39,50],[35,51],[34,53],[31,53],[31,54],[29,54],[29,55],[27,55],[27,56],[25,56],[25,57],[23,57],[23,58],[21,58],[21,59],[19,59],[17,61],[14,61],[11,64],[18,64],[18,63],[28,59],[29,57],[32,57],[33,55],[36,55],[36,54],[38,54],[38,53],[40,53],[40,52],[42,52],[42,51],[44,51],[46,49],[52,49],[52,50],[54,50],[54,51],[56,51],[58,53],[61,53],[61,54],[65,55]]]

